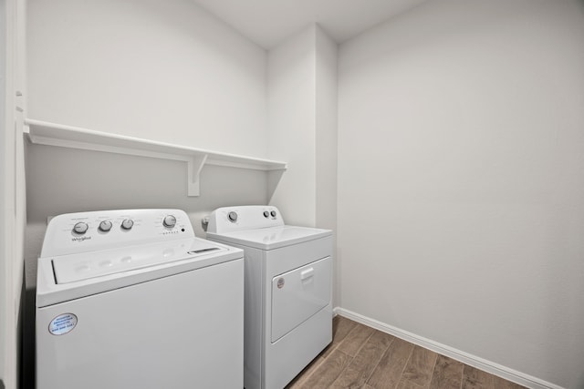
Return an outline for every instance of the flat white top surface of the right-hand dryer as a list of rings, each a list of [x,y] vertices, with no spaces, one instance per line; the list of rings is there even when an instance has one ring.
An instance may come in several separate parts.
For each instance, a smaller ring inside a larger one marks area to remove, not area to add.
[[[312,241],[332,235],[331,230],[313,229],[309,227],[280,226],[255,230],[239,230],[223,234],[207,232],[207,238],[255,247],[261,250],[273,250],[280,247]]]

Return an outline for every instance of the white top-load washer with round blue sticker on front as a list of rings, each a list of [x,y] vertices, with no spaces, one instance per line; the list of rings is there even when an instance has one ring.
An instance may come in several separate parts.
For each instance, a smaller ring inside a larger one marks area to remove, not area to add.
[[[182,210],[50,220],[36,282],[36,388],[243,387],[243,251]]]

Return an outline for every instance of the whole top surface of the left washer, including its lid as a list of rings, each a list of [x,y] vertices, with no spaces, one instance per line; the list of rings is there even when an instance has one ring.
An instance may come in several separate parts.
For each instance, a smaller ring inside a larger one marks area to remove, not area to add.
[[[241,249],[193,238],[39,258],[36,307],[221,265],[243,257],[244,251]]]

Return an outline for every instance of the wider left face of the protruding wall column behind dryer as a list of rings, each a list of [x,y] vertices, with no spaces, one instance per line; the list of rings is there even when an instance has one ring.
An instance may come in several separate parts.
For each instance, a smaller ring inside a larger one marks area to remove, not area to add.
[[[310,26],[267,56],[268,156],[287,172],[270,199],[287,224],[316,223],[315,34]]]

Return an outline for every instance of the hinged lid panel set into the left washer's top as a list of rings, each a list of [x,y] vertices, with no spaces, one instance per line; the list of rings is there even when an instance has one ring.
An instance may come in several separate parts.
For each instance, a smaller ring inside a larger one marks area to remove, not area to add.
[[[133,271],[174,261],[218,254],[227,249],[214,242],[181,240],[130,246],[123,249],[61,255],[52,259],[57,284]]]

